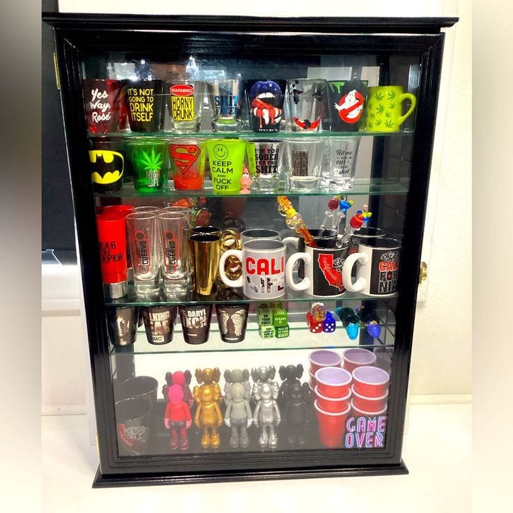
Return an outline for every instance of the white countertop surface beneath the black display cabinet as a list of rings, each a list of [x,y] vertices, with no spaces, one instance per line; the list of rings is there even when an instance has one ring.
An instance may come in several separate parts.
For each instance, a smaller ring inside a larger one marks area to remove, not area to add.
[[[43,510],[466,513],[470,511],[471,409],[471,404],[410,406],[403,450],[409,475],[117,489],[91,488],[98,456],[89,443],[86,416],[45,416]]]

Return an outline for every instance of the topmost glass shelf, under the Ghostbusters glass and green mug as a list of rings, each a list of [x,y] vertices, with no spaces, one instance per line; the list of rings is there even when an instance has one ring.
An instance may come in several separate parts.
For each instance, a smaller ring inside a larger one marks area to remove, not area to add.
[[[408,136],[413,135],[415,130],[400,130],[399,132],[367,132],[362,130],[360,132],[270,132],[270,133],[257,133],[249,132],[195,132],[192,134],[177,134],[168,130],[160,130],[159,132],[107,132],[103,134],[88,134],[88,137],[122,137],[123,139],[131,139],[132,137],[166,137],[169,139],[181,139],[190,137],[200,137],[207,139],[237,139],[239,137],[250,139],[289,139],[301,137],[393,137],[393,136]]]

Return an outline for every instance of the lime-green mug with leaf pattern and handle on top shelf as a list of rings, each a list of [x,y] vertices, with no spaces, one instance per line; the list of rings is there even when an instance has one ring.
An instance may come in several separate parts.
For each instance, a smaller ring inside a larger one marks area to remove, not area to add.
[[[408,112],[402,115],[402,102],[410,100]],[[415,109],[417,98],[404,93],[402,86],[369,87],[367,97],[367,131],[399,132],[399,127]]]

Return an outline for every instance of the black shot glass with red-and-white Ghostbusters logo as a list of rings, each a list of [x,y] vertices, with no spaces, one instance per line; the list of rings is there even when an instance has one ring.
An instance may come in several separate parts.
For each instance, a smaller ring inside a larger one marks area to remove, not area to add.
[[[367,80],[328,80],[332,132],[358,132],[365,125]]]

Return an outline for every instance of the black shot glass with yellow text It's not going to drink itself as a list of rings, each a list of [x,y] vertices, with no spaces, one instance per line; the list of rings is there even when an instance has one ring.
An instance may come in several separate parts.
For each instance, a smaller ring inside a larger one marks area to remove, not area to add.
[[[130,82],[124,91],[128,123],[132,132],[158,132],[164,126],[164,82]]]

